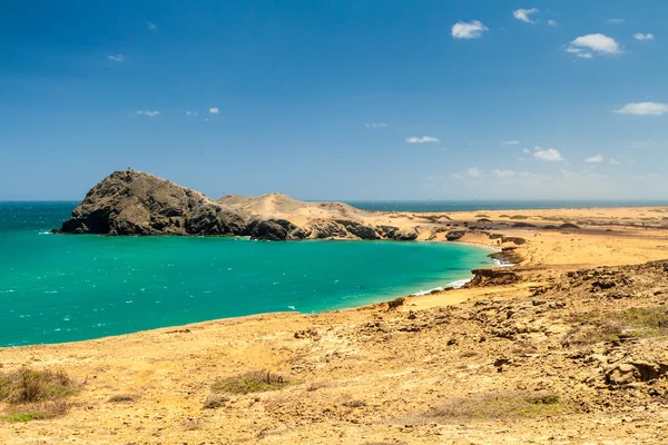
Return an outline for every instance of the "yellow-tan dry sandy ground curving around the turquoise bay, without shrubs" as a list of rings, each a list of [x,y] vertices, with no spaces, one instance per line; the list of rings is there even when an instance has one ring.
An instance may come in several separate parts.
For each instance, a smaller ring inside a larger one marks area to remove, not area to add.
[[[0,370],[65,369],[81,385],[65,416],[0,422],[0,443],[668,443],[668,333],[620,325],[621,339],[595,335],[608,318],[628,322],[625,310],[664,307],[668,265],[572,273],[668,258],[668,209],[358,217],[418,226],[434,240],[466,221],[479,229],[462,241],[517,247],[521,280],[412,297],[395,310],[269,314],[0,348]],[[538,227],[511,227],[518,221]],[[540,228],[566,221],[580,228]],[[250,370],[289,385],[203,408],[215,382]],[[557,402],[522,402],[544,394]],[[131,400],[110,403],[115,395]]]

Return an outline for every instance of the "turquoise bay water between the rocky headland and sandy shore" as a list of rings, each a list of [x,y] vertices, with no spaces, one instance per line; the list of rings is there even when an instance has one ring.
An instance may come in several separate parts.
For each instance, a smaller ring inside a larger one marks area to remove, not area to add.
[[[75,206],[0,202],[0,346],[346,308],[491,265],[489,250],[453,244],[48,234]]]

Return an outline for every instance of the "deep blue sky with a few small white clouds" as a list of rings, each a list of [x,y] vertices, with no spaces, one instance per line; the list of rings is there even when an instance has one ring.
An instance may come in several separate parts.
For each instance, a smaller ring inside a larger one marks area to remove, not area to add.
[[[0,2],[0,200],[668,199],[668,1]]]

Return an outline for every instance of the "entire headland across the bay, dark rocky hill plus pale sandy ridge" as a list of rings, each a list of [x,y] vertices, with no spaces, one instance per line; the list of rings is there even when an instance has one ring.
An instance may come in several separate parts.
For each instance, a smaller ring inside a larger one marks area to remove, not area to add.
[[[137,170],[120,170],[97,184],[56,233],[104,235],[250,236],[256,239],[418,238],[415,230],[373,224],[372,212],[342,202],[305,202],[282,194],[199,191]],[[370,222],[370,220],[372,222]]]

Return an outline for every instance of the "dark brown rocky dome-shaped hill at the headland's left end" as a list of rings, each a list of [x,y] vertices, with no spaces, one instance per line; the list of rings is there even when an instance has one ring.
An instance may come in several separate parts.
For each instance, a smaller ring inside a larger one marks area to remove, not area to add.
[[[203,194],[136,170],[96,185],[60,233],[107,235],[240,235],[246,218]]]

